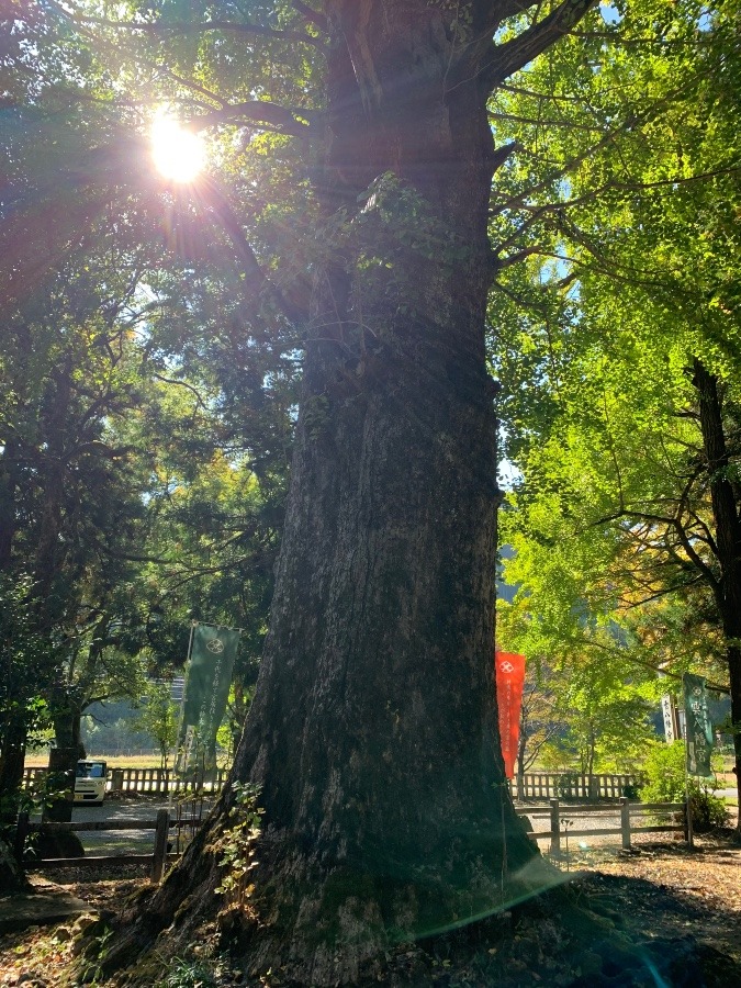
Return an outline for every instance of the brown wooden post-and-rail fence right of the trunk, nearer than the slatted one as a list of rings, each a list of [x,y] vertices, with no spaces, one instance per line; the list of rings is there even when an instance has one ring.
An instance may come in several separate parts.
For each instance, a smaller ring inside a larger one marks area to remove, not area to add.
[[[530,824],[534,820],[548,819],[549,830],[530,831],[530,837],[536,841],[550,841],[550,853],[561,853],[561,842],[568,843],[570,839],[580,840],[585,837],[608,837],[619,834],[622,842],[622,849],[629,851],[631,847],[631,835],[633,833],[666,833],[670,831],[682,831],[685,840],[692,845],[692,818],[687,813],[684,802],[631,802],[625,796],[619,800],[620,826],[605,827],[595,826],[582,828],[573,828],[576,818],[587,818],[594,820],[595,824],[600,822],[608,823],[605,817],[615,817],[618,807],[615,806],[577,806],[562,805],[558,799],[551,799],[548,809],[534,809],[528,812],[520,812],[518,816],[523,820],[527,820]],[[676,817],[681,817],[681,822],[676,822]],[[600,817],[603,820],[600,820]],[[671,823],[656,823],[656,818],[666,817],[672,819]]]

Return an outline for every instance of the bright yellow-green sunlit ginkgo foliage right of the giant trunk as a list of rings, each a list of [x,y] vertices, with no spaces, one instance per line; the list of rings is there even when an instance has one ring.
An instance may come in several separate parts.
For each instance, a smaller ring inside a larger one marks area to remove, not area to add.
[[[737,16],[734,3],[628,5],[606,33],[631,23],[635,44],[615,57],[595,47],[581,104],[558,94],[571,42],[503,97],[510,127],[527,117],[539,132],[536,108],[562,125],[538,165],[541,204],[513,242],[526,265],[503,279],[524,310],[497,305],[494,358],[524,472],[516,524],[573,582],[562,605],[611,610],[637,662],[725,681],[734,723]],[[629,126],[613,128],[620,120]],[[593,127],[604,142],[586,155]]]

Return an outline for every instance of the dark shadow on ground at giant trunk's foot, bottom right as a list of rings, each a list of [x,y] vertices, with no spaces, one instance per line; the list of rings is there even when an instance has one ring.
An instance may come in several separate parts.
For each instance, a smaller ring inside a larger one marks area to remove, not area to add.
[[[385,980],[451,988],[738,988],[741,964],[726,950],[738,931],[731,906],[710,910],[642,878],[582,873],[568,892],[397,951]]]

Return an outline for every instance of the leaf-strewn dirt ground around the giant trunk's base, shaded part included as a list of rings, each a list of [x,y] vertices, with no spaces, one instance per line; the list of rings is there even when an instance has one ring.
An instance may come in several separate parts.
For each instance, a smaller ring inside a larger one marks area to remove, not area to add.
[[[581,930],[564,928],[552,903],[530,903],[475,930],[397,948],[373,983],[451,988],[741,985],[741,844],[732,831],[697,838],[694,851],[684,842],[647,839],[631,854],[614,845],[577,849],[558,866],[573,878],[571,900],[586,917]],[[83,899],[92,913],[115,911],[124,897],[147,885],[135,867],[96,882],[81,872],[47,873],[33,880],[40,889],[63,887]],[[72,965],[76,933],[83,924],[67,921],[0,938],[0,986],[80,984]],[[197,945],[192,958],[178,961],[175,974],[164,969],[153,988],[247,984],[238,962],[210,962],[207,953],[207,944]],[[261,984],[287,983],[276,973]]]

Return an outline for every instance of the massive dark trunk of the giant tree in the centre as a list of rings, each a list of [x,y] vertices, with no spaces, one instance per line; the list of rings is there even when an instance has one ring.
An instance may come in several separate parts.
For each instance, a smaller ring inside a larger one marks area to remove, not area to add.
[[[396,940],[503,908],[540,869],[504,778],[493,678],[494,5],[471,4],[462,37],[448,4],[325,3],[316,191],[336,222],[321,234],[271,629],[234,770],[265,808],[244,950],[252,970],[300,983],[353,979]],[[111,965],[183,897],[180,922],[210,901],[231,802]]]

